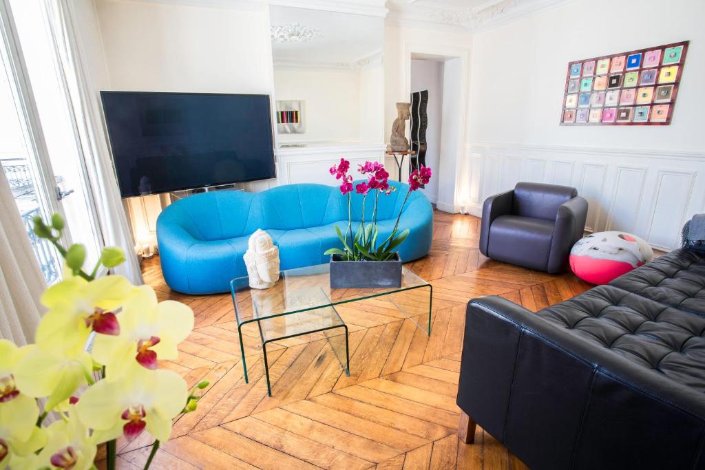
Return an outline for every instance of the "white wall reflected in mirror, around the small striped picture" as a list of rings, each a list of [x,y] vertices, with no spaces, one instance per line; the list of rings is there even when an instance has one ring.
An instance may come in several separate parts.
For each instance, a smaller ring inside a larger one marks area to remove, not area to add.
[[[360,139],[360,72],[335,68],[274,69],[277,100],[306,101],[306,132],[279,134],[287,142]]]

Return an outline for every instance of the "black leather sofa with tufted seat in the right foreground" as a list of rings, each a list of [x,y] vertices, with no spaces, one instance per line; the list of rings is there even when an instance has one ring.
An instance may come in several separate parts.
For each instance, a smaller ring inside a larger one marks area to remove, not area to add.
[[[705,469],[704,335],[685,249],[537,314],[473,299],[460,436],[477,423],[532,469]]]

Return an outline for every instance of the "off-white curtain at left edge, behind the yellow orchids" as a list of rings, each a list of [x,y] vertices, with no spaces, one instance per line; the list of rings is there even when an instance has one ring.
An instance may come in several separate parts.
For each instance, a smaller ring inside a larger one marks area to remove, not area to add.
[[[16,345],[33,342],[47,287],[25,225],[0,171],[0,338]]]

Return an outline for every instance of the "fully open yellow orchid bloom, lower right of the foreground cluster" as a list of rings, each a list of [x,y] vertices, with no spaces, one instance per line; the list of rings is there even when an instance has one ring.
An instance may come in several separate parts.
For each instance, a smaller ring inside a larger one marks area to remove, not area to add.
[[[173,371],[145,369],[132,362],[121,378],[103,380],[81,395],[76,411],[94,431],[97,443],[118,438],[135,438],[142,431],[166,441],[171,420],[188,399],[186,383]]]

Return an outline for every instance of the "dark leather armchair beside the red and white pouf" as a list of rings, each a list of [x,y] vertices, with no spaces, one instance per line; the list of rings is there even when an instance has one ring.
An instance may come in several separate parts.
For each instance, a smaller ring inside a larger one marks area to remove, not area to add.
[[[482,207],[480,252],[491,259],[558,273],[582,238],[587,201],[574,187],[517,183]]]

